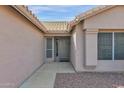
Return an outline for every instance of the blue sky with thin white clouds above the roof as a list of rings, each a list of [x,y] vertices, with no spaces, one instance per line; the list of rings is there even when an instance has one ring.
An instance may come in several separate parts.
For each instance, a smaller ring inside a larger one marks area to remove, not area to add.
[[[41,21],[71,21],[95,5],[30,5],[28,6]]]

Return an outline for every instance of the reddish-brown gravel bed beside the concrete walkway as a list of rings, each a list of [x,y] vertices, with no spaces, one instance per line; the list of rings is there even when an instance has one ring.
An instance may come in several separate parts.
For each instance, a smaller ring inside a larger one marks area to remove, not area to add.
[[[57,73],[55,88],[124,88],[124,73]]]

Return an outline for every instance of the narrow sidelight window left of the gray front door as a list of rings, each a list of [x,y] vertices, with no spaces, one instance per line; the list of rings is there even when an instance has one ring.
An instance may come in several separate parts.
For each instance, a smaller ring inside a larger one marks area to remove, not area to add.
[[[46,56],[47,58],[52,58],[52,38],[47,38],[47,49]]]

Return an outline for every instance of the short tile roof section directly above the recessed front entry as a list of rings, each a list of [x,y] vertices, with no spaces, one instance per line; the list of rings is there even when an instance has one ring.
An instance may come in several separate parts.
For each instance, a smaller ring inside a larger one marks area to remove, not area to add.
[[[68,33],[69,23],[66,21],[44,21],[47,33]]]

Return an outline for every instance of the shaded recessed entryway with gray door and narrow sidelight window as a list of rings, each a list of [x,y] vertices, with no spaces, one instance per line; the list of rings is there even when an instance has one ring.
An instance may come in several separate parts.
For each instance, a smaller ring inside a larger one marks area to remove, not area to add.
[[[70,37],[46,37],[46,62],[70,61]]]

